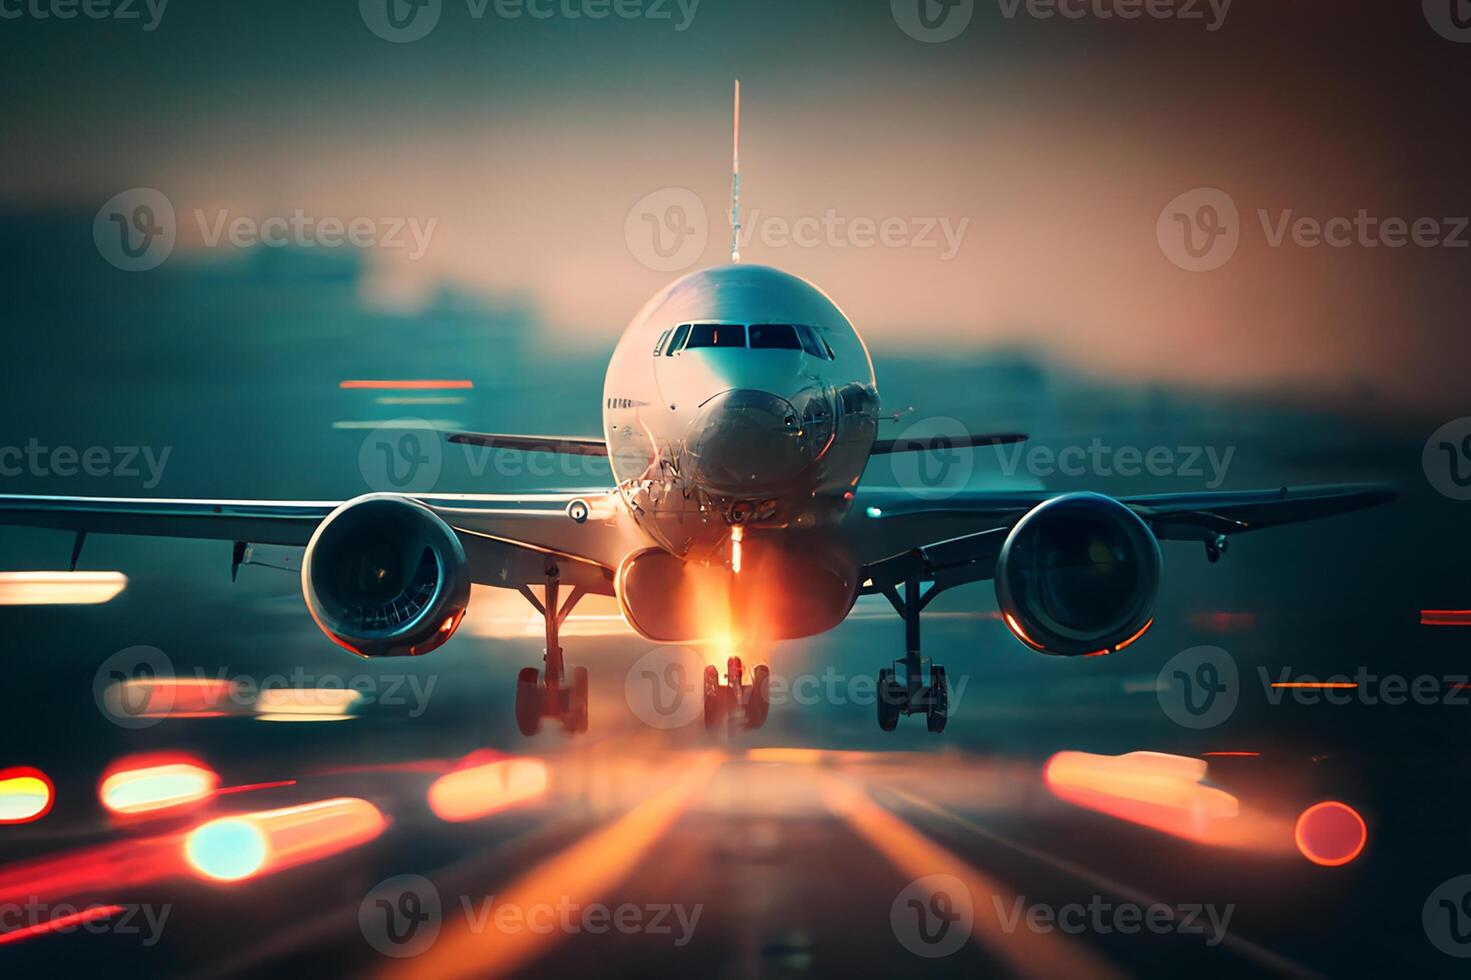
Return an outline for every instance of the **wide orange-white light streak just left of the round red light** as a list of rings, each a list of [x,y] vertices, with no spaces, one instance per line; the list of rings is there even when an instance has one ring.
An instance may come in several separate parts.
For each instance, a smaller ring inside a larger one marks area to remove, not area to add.
[[[1205,783],[1205,759],[1161,752],[1058,752],[1043,770],[1058,799],[1196,843],[1290,853],[1286,820]]]

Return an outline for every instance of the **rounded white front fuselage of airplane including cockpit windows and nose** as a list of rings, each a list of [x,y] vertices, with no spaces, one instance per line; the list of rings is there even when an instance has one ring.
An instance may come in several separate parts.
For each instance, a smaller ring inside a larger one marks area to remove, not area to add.
[[[668,552],[719,561],[733,527],[841,519],[874,444],[858,331],[815,285],[759,265],[675,281],[634,316],[603,386],[618,491]]]

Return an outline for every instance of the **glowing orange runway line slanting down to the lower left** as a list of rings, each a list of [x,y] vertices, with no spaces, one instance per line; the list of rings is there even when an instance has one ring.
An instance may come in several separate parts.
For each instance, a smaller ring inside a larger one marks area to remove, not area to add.
[[[665,831],[709,784],[719,765],[721,758],[715,752],[693,756],[672,786],[499,889],[493,896],[494,902],[512,908],[531,908],[543,903],[587,905],[599,901],[640,865]],[[562,937],[565,933],[560,931],[475,930],[463,921],[452,927],[446,917],[444,931],[434,946],[413,959],[387,964],[380,976],[500,977],[515,973]]]

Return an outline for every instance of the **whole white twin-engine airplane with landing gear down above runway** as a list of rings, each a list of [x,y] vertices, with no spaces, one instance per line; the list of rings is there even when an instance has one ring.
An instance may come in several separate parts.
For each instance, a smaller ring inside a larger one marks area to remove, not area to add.
[[[543,617],[543,665],[516,680],[518,728],[588,725],[588,674],[568,671],[559,630],[587,594],[612,596],[656,643],[722,639],[737,650],[837,627],[884,596],[905,650],[878,671],[891,731],[949,718],[944,667],[922,655],[921,614],[943,592],[993,580],[1006,628],[1056,656],[1115,653],[1153,622],[1161,542],[1215,562],[1231,536],[1386,503],[1392,490],[1324,486],[1111,497],[959,490],[924,499],[863,487],[874,456],[1016,443],[1019,433],[880,438],[872,359],[816,285],[740,262],[736,82],[731,262],[671,283],[622,333],[603,384],[602,437],[455,433],[452,443],[606,456],[599,493],[368,493],[350,500],[0,496],[0,524],[303,547],[316,625],[363,656],[422,656],[459,627],[471,584],[515,589]],[[712,625],[724,624],[724,625]],[[710,630],[734,636],[712,637]],[[756,728],[769,670],[705,668],[710,728]]]

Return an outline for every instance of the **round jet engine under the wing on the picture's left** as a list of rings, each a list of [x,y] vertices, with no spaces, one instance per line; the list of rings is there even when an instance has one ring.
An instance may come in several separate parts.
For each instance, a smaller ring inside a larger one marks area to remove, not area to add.
[[[306,546],[302,593],[357,656],[419,656],[455,634],[469,603],[459,536],[422,503],[368,494],[332,511]]]

